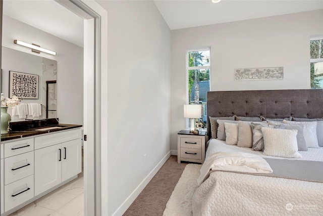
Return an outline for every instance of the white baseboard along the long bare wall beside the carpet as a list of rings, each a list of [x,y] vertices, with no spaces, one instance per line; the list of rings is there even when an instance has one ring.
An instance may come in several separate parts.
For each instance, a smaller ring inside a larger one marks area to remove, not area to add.
[[[177,152],[177,151],[176,151]],[[138,187],[128,196],[128,198],[119,206],[119,208],[112,214],[114,215],[122,215],[126,212],[129,206],[135,201],[137,196],[141,193],[141,191],[148,185],[150,180],[156,175],[157,171],[161,166],[164,165],[166,160],[171,156],[171,151],[169,151],[163,159],[151,170],[148,176],[138,185]]]

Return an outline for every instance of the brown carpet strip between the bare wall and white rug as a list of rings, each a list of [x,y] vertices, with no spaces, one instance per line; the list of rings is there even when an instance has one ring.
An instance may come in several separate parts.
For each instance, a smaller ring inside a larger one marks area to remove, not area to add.
[[[186,165],[177,163],[177,156],[171,155],[123,215],[163,215],[166,203]]]

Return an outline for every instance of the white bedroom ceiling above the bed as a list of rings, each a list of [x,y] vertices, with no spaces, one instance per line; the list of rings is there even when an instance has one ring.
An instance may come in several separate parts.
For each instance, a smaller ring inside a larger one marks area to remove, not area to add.
[[[171,30],[323,9],[323,1],[154,0]]]

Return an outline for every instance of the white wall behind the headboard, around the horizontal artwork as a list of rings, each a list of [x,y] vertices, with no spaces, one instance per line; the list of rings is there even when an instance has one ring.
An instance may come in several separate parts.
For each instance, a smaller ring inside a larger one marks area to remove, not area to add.
[[[211,91],[310,89],[309,39],[323,10],[172,30],[171,149],[186,128],[186,51],[211,47]],[[284,67],[284,80],[234,81],[235,68]]]

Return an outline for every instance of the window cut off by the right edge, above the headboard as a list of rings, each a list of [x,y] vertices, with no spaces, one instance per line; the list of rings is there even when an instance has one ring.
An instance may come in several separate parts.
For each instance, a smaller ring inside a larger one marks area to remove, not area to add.
[[[311,89],[323,88],[323,36],[310,40]]]

